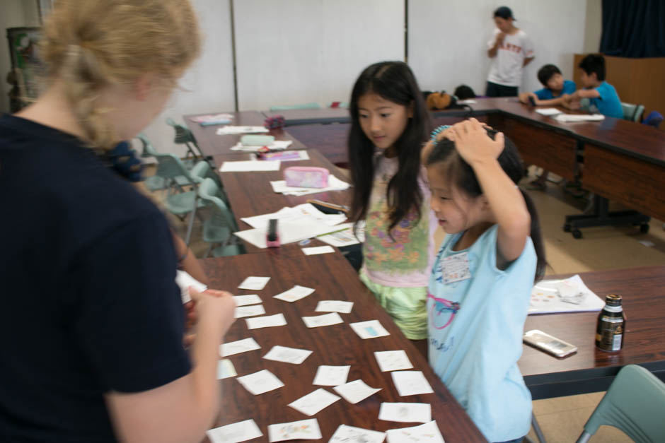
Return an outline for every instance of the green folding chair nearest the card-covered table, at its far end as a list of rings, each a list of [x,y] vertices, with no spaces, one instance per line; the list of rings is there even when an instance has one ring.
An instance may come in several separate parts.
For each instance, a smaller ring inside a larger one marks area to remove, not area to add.
[[[210,244],[204,258],[209,256],[210,252],[216,257],[244,254],[244,248],[236,244],[236,237],[233,237],[233,232],[238,230],[236,221],[221,199],[219,187],[213,179],[203,180],[199,185],[199,196],[207,201],[212,209],[210,217],[203,222],[203,241]],[[215,244],[220,246],[214,248]]]

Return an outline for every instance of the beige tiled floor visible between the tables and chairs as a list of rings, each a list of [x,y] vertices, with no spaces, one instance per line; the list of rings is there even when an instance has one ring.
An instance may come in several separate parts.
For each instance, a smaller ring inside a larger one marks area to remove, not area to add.
[[[632,226],[586,228],[582,230],[584,238],[575,240],[569,232],[562,230],[564,216],[582,213],[586,201],[565,194],[562,187],[554,183],[548,183],[544,192],[529,191],[529,194],[540,215],[550,264],[548,274],[665,264],[662,221],[652,220],[647,234],[640,234]],[[176,228],[184,234],[184,223],[176,223]],[[197,223],[192,249],[200,256],[206,245],[199,237],[200,225]],[[440,242],[443,233],[439,232],[436,237]],[[596,393],[534,401],[533,410],[547,441],[574,442],[602,396],[603,393]],[[529,435],[535,439],[533,430]],[[601,427],[591,439],[591,442],[604,443],[630,441],[623,432],[607,426]]]

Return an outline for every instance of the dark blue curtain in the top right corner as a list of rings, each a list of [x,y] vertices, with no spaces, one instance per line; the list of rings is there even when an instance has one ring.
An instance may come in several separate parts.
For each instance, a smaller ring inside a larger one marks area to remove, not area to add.
[[[665,0],[603,0],[600,52],[665,57]]]

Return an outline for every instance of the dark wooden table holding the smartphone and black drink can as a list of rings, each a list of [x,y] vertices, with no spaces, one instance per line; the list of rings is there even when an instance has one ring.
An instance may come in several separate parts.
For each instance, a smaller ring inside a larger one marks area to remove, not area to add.
[[[579,276],[603,300],[610,293],[621,295],[628,317],[625,344],[616,353],[596,349],[598,312],[528,316],[525,331],[540,329],[578,348],[574,355],[558,359],[524,345],[519,368],[533,398],[603,391],[625,365],[641,365],[665,381],[665,266],[586,272]]]

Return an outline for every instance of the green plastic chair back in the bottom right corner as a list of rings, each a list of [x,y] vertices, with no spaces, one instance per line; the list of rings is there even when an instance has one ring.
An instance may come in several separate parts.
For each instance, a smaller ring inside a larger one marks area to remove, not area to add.
[[[601,425],[618,427],[637,443],[665,442],[665,384],[641,366],[623,367],[577,443],[588,442]]]

